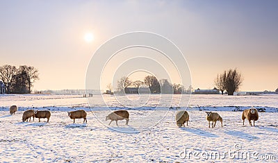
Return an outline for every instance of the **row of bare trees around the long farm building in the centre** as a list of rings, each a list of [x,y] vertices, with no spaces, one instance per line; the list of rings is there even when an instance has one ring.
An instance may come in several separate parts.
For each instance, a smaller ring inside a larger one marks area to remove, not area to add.
[[[151,94],[189,94],[192,91],[191,87],[185,89],[181,84],[172,84],[167,79],[158,80],[156,76],[145,76],[144,81],[132,81],[124,76],[117,81],[117,92],[127,93],[129,87],[139,88],[142,85],[149,87]],[[112,92],[111,84],[107,88]]]

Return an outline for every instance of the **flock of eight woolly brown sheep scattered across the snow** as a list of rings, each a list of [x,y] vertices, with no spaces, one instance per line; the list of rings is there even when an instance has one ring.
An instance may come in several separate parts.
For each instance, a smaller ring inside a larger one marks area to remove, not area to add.
[[[16,105],[10,107],[10,114],[15,114],[16,111],[17,111]],[[67,113],[70,119],[74,120],[74,123],[75,123],[75,119],[83,119],[83,123],[87,123],[87,118],[86,118],[87,112],[85,112],[85,110],[76,110]],[[49,122],[49,118],[51,117],[51,112],[49,110],[26,110],[22,115],[22,121],[28,121],[28,119],[29,121],[31,121],[31,117],[33,117],[33,121],[35,118],[38,118],[39,122],[40,119],[47,119],[47,122]],[[176,118],[177,126],[179,126],[179,128],[181,126],[184,126],[184,123],[186,123],[186,126],[188,126],[189,114],[185,110],[177,111],[175,118]],[[256,110],[256,108],[250,108],[244,110],[241,119],[243,119],[243,125],[245,119],[247,119],[251,126],[252,126],[251,121],[253,120],[253,125],[255,126],[255,121],[259,119],[258,111]],[[107,120],[111,120],[109,125],[111,124],[112,121],[116,121],[117,124],[117,121],[126,120],[126,125],[128,125],[129,112],[127,112],[126,110],[116,110],[108,114],[108,116],[106,116],[106,121]],[[220,115],[217,112],[206,112],[206,120],[208,120],[208,128],[215,127],[217,121],[220,121],[221,127],[223,127],[223,119],[222,117],[220,117]]]

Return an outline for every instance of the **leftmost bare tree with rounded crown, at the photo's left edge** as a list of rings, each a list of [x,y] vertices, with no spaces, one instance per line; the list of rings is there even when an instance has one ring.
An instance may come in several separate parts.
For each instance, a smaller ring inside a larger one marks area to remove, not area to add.
[[[17,68],[11,65],[3,65],[0,67],[0,78],[6,85],[7,93],[10,94],[10,88],[12,87],[12,80],[17,73]]]

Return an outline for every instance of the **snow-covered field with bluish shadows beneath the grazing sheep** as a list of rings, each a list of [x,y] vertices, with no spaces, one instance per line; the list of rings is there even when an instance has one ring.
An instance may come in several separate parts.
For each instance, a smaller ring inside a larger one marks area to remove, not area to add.
[[[162,101],[151,96],[140,108],[124,108],[130,112],[129,126],[125,121],[115,126],[114,121],[111,128],[104,121],[107,110],[100,95],[94,96],[91,108],[81,95],[0,96],[0,162],[278,162],[277,95],[193,95],[184,128],[177,128],[174,121],[179,96],[174,96],[169,111],[169,95],[165,96]],[[104,98],[112,110],[123,108],[121,99]],[[19,106],[15,115],[9,115],[10,105]],[[186,105],[180,103],[179,110]],[[251,106],[265,112],[259,112],[255,127],[247,121],[243,126],[239,110]],[[30,108],[51,110],[50,122],[23,123],[22,113]],[[67,117],[65,111],[78,109],[88,111],[87,124],[83,119],[74,124]],[[219,122],[208,128],[204,110],[217,110],[223,128]],[[165,117],[158,121],[160,115]]]

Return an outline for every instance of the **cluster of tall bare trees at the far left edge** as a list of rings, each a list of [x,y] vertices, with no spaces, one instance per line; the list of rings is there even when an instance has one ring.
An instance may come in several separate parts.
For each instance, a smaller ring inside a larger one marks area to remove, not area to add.
[[[3,65],[0,67],[0,80],[6,86],[7,94],[30,94],[33,83],[39,79],[38,69],[31,66]]]

